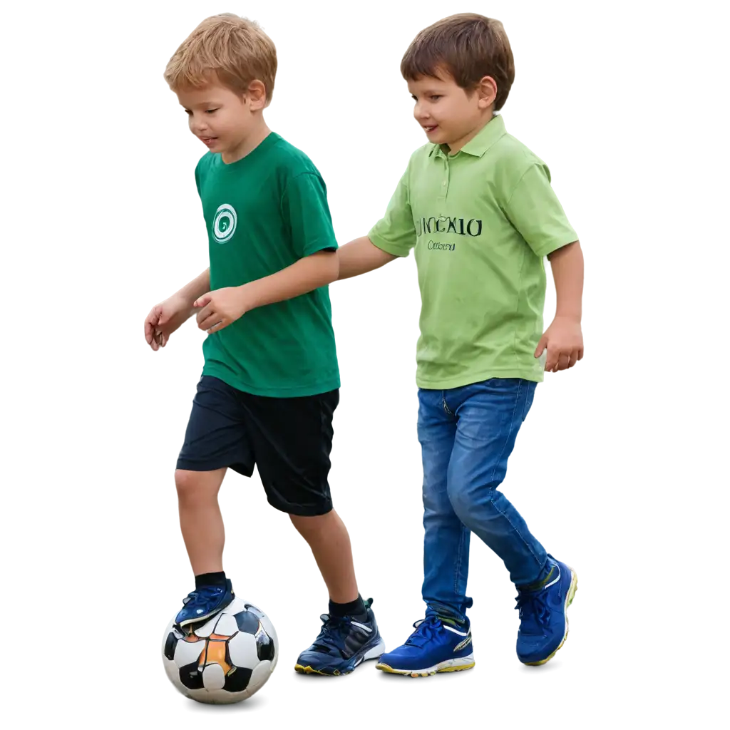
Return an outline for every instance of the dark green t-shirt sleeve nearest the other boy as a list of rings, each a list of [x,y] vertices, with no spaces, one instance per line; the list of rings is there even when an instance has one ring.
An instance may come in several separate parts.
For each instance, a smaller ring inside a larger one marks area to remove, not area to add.
[[[331,213],[322,178],[303,172],[290,178],[282,200],[296,254],[304,258],[323,250],[337,250]]]

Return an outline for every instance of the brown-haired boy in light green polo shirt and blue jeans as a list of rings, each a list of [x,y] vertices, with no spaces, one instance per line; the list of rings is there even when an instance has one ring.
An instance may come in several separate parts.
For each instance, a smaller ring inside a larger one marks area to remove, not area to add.
[[[412,676],[475,666],[470,534],[515,586],[518,658],[545,664],[568,637],[578,573],[548,555],[501,485],[545,370],[572,367],[583,352],[582,244],[548,167],[507,130],[512,58],[496,23],[442,20],[416,37],[401,70],[426,142],[383,215],[338,254],[341,277],[415,257],[426,617],[377,666]],[[548,269],[556,300],[545,328]]]

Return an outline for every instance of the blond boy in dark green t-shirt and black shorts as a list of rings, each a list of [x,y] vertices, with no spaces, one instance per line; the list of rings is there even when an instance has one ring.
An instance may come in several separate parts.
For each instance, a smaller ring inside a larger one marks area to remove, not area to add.
[[[164,349],[194,309],[207,334],[172,477],[194,582],[176,624],[190,631],[232,601],[216,499],[227,472],[255,477],[312,556],[328,599],[294,668],[347,675],[385,642],[359,595],[329,488],[340,383],[327,287],[337,280],[337,239],[312,161],[266,123],[276,69],[272,40],[231,14],[201,20],[164,64],[164,84],[207,150],[194,188],[208,268],[143,320],[150,350]]]

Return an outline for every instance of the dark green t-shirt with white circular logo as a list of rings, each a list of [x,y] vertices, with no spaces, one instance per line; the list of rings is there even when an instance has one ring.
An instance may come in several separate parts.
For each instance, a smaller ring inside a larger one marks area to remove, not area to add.
[[[337,249],[323,179],[306,153],[276,132],[232,164],[204,153],[194,185],[212,290]],[[204,338],[201,358],[203,375],[254,395],[310,396],[339,388],[329,288],[246,312]]]

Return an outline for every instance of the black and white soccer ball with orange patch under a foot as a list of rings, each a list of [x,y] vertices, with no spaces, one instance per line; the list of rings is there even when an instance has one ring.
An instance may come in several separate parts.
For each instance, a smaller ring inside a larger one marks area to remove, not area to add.
[[[174,628],[175,615],[160,629],[160,671],[174,696],[233,704],[264,688],[279,658],[278,632],[264,610],[237,593],[189,636]]]

